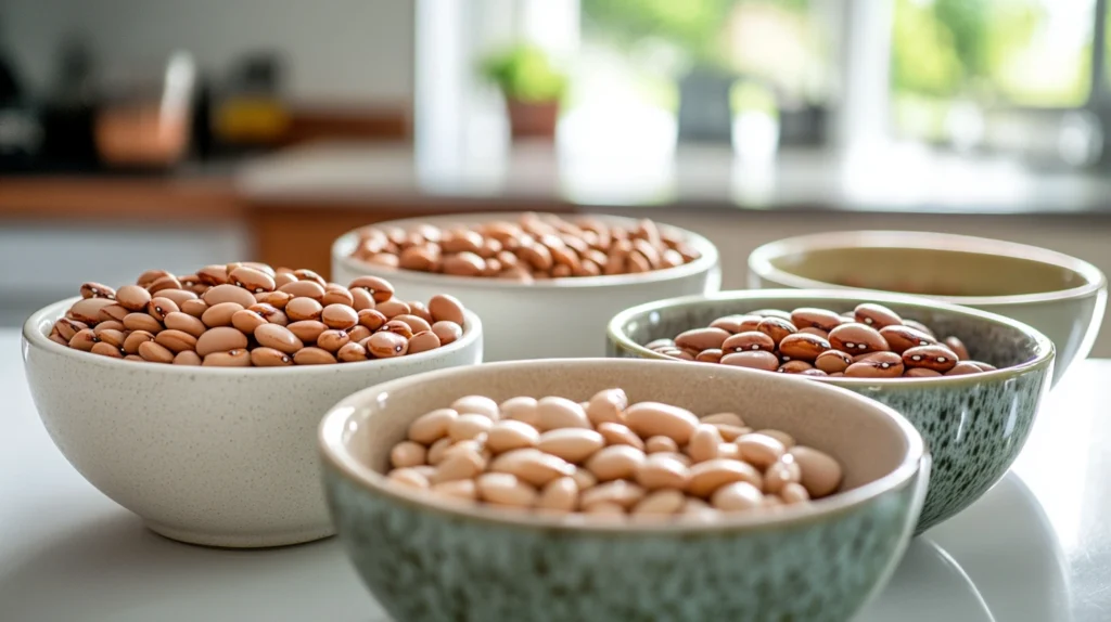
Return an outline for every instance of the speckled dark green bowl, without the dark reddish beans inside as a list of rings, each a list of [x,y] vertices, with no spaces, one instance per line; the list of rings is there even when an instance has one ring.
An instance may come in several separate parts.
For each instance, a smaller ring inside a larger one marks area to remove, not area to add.
[[[1052,378],[1053,344],[1041,333],[1002,316],[898,294],[722,292],[660,300],[618,314],[609,328],[610,356],[664,358],[643,344],[708,326],[724,315],[798,307],[840,313],[865,302],[885,305],[941,335],[955,335],[974,359],[1000,367],[997,371],[941,378],[808,377],[891,406],[922,432],[933,456],[933,469],[917,529],[921,533],[972,504],[1003,477],[1022,450]],[[718,367],[705,363],[684,365],[703,373]]]

